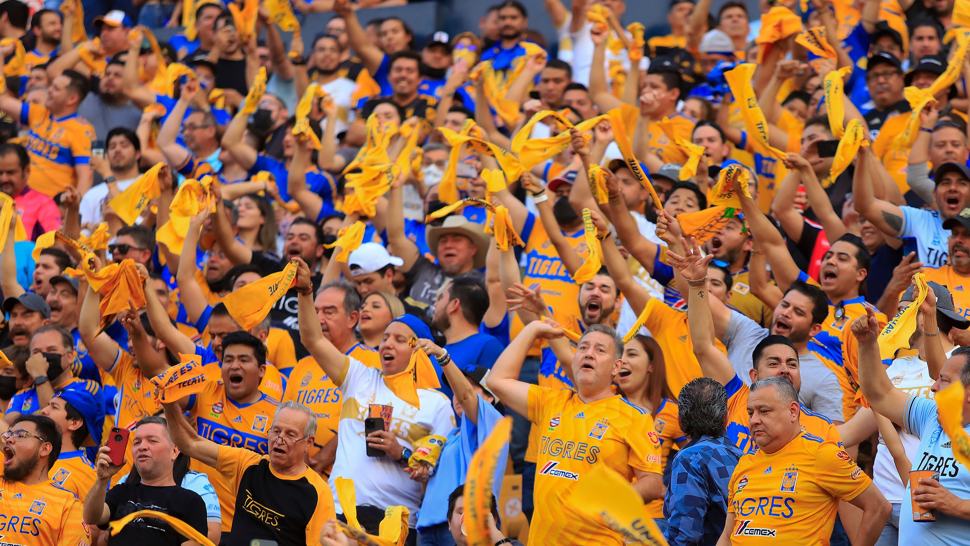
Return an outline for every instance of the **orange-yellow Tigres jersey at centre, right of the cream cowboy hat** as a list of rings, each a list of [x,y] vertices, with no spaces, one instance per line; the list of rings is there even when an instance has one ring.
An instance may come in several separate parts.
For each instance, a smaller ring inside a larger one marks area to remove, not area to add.
[[[541,287],[542,299],[556,312],[564,315],[579,315],[579,285],[572,280],[569,270],[556,252],[556,247],[549,240],[542,220],[530,213],[521,235],[522,240],[526,242],[526,249],[523,252],[526,256],[526,271],[522,277],[522,284],[529,288],[534,288],[536,285]],[[582,229],[572,235],[566,235],[566,241],[579,257],[586,259],[586,256],[589,256],[590,251],[586,248],[586,238]],[[525,326],[518,313],[512,315],[512,324],[509,327],[511,337],[519,335],[523,327]],[[535,341],[532,350],[529,351],[530,357],[538,357],[541,354],[540,344],[539,340]]]

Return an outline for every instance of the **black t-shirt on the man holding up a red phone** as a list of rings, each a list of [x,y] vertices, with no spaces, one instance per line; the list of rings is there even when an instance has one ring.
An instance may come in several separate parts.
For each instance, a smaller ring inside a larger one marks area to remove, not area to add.
[[[202,534],[209,532],[206,502],[199,494],[179,486],[155,487],[139,482],[122,482],[108,490],[105,502],[111,510],[111,521],[117,521],[139,510],[155,510],[185,522]],[[101,527],[108,529],[108,526]],[[116,535],[108,538],[109,546],[180,546],[188,540],[169,524],[151,518],[136,518]]]

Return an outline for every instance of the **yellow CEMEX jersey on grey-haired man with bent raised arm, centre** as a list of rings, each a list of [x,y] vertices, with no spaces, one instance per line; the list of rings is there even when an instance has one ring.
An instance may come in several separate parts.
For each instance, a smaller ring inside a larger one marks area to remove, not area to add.
[[[653,418],[619,395],[587,404],[575,392],[532,385],[529,421],[541,433],[530,542],[622,546],[622,534],[579,516],[563,499],[596,464],[630,481],[634,469],[660,474],[660,435]]]

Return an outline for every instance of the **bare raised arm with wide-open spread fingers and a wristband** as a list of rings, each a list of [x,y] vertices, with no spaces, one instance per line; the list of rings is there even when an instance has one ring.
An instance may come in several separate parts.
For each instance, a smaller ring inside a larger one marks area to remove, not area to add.
[[[687,242],[682,241],[686,247]],[[667,252],[670,265],[680,270],[688,279],[690,290],[687,290],[687,322],[691,328],[691,339],[694,341],[694,355],[700,364],[700,370],[705,377],[709,377],[722,385],[727,385],[737,375],[727,356],[718,350],[714,344],[714,321],[708,304],[710,294],[707,292],[707,264],[712,255],[700,257],[700,248],[694,237],[691,237],[690,251],[685,256],[678,256]],[[699,281],[693,282],[692,280]]]

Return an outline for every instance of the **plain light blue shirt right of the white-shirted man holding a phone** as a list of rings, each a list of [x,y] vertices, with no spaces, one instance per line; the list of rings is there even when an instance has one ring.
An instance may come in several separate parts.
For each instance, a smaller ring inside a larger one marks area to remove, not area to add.
[[[448,432],[448,439],[441,448],[441,456],[437,460],[421,510],[418,512],[417,529],[427,529],[448,521],[448,495],[458,486],[465,484],[465,477],[469,473],[471,456],[478,446],[488,438],[494,428],[501,421],[501,413],[495,406],[482,399],[478,394],[478,427],[471,424],[468,417],[462,414],[461,427]],[[502,448],[499,461],[505,461],[508,445]],[[492,493],[496,499],[501,491],[501,477],[505,473],[505,466],[499,465],[496,470],[495,481],[492,483]]]

